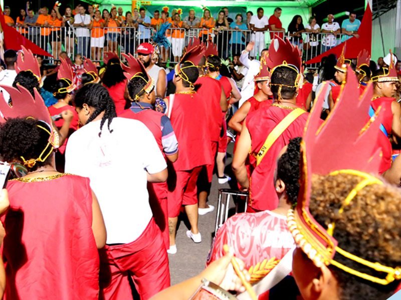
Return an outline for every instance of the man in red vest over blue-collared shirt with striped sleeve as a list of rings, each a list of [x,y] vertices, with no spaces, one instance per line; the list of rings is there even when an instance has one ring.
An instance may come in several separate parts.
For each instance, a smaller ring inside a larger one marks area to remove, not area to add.
[[[178,157],[178,142],[170,119],[153,108],[156,100],[155,82],[139,60],[132,55],[123,55],[128,62],[128,67],[124,66],[124,69],[129,80],[128,94],[132,103],[130,108],[118,116],[136,119],[144,123],[153,133],[164,158],[174,162]],[[167,182],[148,182],[147,189],[154,220],[162,232],[166,249],[169,249]]]

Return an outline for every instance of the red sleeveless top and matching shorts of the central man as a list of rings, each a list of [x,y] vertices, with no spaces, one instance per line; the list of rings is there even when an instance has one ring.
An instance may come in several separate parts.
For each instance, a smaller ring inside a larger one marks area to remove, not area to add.
[[[175,93],[170,105],[170,120],[179,144],[178,159],[168,167],[168,216],[176,217],[181,204],[196,204],[196,179],[201,166],[214,163],[211,136],[205,124],[204,97]]]

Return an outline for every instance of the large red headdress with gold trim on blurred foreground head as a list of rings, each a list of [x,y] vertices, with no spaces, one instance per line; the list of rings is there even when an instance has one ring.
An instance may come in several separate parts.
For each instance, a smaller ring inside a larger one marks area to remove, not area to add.
[[[341,214],[347,205],[352,205],[352,198],[357,192],[370,184],[383,184],[383,182],[370,175],[378,173],[380,164],[380,149],[376,149],[372,140],[377,140],[380,132],[382,111],[368,122],[368,110],[373,93],[372,83],[369,83],[363,94],[359,97],[358,81],[350,66],[347,66],[346,83],[343,84],[333,110],[326,121],[321,124],[320,113],[324,95],[328,86],[325,85],[317,95],[313,105],[301,142],[301,188],[295,210],[290,209],[287,215],[289,230],[295,242],[317,267],[322,265],[335,265],[345,272],[370,280],[379,284],[387,284],[399,279],[399,269],[370,262],[352,253],[343,250],[343,244],[333,237],[335,223],[322,226],[316,221],[309,210],[309,201],[312,189],[312,175],[335,175],[338,173],[356,174],[364,178],[344,198],[342,208],[334,213]],[[358,99],[356,100],[355,99]],[[332,151],[332,149],[341,149]],[[355,154],[357,153],[357,154]],[[375,271],[385,272],[385,279],[366,274],[351,268],[334,259],[335,254],[360,264],[361,269],[366,267]],[[363,267],[362,267],[363,266]]]

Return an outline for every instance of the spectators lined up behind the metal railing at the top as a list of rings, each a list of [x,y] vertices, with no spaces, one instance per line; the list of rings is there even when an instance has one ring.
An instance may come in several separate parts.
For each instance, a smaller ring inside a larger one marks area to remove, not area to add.
[[[341,26],[334,21],[333,14],[329,14],[327,22],[321,26],[313,16],[304,26],[302,16],[297,14],[288,28],[284,28],[280,20],[280,7],[276,7],[270,17],[259,7],[255,15],[248,11],[246,15],[237,13],[233,19],[229,16],[228,7],[223,7],[216,16],[206,7],[202,16],[197,16],[194,9],[189,9],[188,14],[183,16],[182,9],[174,8],[170,12],[167,6],[161,11],[154,10],[152,15],[144,7],[134,8],[132,12],[124,12],[122,7],[115,6],[100,11],[98,5],[91,4],[87,7],[79,4],[75,9],[66,6],[63,7],[64,14],[61,14],[59,6],[55,5],[52,9],[44,6],[36,14],[27,6],[26,9],[20,9],[16,20],[10,17],[10,8],[6,6],[5,20],[42,48],[49,49],[56,59],[62,47],[68,53],[80,53],[92,60],[101,60],[103,50],[134,54],[136,45],[150,41],[161,29],[161,34],[170,42],[169,45],[163,45],[165,53],[162,60],[175,62],[179,60],[189,39],[196,36],[204,41],[215,42],[219,55],[224,59],[239,54],[250,40],[255,41],[256,45],[252,56],[260,55],[266,47],[266,32],[270,32],[270,38],[274,35],[287,36],[301,49],[318,53],[357,36],[360,25],[352,11]],[[169,28],[161,28],[161,24],[169,24]]]

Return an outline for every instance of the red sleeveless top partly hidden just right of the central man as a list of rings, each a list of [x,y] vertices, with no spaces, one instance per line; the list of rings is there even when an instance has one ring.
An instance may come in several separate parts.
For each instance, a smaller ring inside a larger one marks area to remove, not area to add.
[[[222,107],[220,99],[222,94],[221,83],[209,76],[199,76],[195,84],[198,84],[197,93],[203,97],[206,111],[206,121],[212,141],[218,141],[222,129]]]

